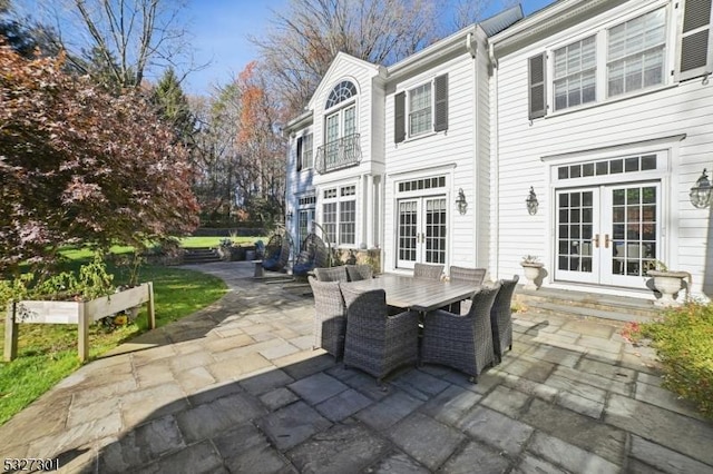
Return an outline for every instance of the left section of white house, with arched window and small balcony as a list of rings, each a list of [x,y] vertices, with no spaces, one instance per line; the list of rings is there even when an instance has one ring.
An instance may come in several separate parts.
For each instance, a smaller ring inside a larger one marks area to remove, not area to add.
[[[340,52],[284,129],[292,234],[314,219],[332,246],[378,248],[385,271],[486,266],[487,38],[519,19],[507,10],[389,68]]]

